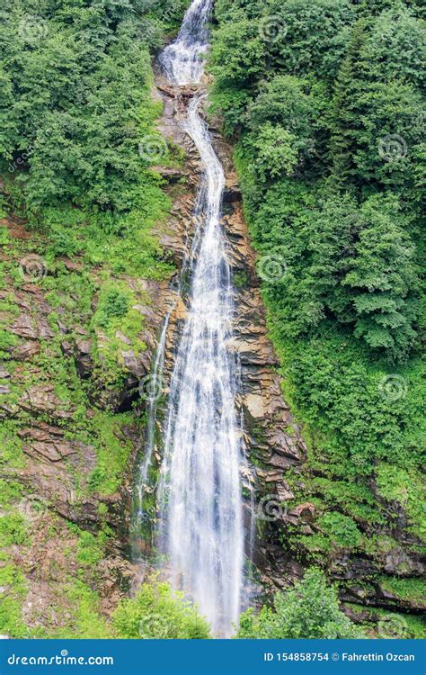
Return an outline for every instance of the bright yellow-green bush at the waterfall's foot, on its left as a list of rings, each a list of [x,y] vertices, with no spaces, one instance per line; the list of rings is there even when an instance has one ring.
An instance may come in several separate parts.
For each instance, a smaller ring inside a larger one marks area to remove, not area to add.
[[[117,637],[126,639],[200,640],[210,636],[197,608],[182,593],[173,593],[169,584],[155,578],[143,583],[135,598],[121,602],[113,623]]]

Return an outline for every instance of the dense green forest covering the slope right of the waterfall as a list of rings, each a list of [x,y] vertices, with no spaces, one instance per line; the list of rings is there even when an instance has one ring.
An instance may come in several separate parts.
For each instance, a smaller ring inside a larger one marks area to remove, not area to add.
[[[421,536],[420,4],[218,0],[216,17],[211,109],[236,142],[284,391],[306,425],[303,493],[328,508],[304,544],[315,558],[333,540],[368,547],[368,523],[379,545],[391,500]]]

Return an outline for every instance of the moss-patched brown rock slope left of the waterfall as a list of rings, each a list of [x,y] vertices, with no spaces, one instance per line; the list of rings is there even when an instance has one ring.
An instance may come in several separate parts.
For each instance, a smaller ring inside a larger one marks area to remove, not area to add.
[[[49,269],[48,285],[44,274],[22,280],[22,260],[40,263],[28,255],[39,242],[21,220],[0,225],[18,247],[0,251],[0,568],[16,579],[2,588],[0,603],[21,606],[18,636],[31,630],[78,636],[79,603],[101,626],[135,576],[128,533],[143,407],[138,383],[150,372],[168,284],[122,282],[135,298],[145,349],[134,350],[117,330],[111,368],[102,356],[111,338],[91,326],[96,269],[64,258]],[[77,297],[83,271],[94,289],[90,311]],[[129,415],[133,401],[139,408]]]

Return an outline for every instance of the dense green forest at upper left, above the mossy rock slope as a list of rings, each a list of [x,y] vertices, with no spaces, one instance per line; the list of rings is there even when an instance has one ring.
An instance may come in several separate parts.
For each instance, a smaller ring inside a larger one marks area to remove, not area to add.
[[[150,50],[181,16],[165,1],[3,4],[0,153],[14,205],[49,231],[52,256],[155,271],[148,232],[167,203],[148,167],[168,148]]]

